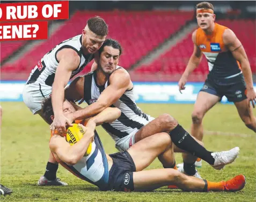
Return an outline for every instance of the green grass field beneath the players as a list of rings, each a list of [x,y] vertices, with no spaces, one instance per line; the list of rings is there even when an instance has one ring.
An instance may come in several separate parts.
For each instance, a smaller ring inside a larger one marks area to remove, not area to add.
[[[235,106],[216,105],[204,119],[204,144],[211,151],[223,151],[240,147],[240,156],[224,170],[217,171],[203,162],[199,169],[202,177],[210,181],[228,180],[237,175],[246,176],[244,190],[236,193],[193,193],[169,190],[166,187],[152,192],[122,193],[100,192],[97,187],[79,180],[61,166],[57,177],[67,187],[38,187],[36,182],[45,173],[49,155],[49,126],[23,103],[1,103],[3,127],[1,134],[1,183],[13,189],[10,196],[1,196],[3,201],[256,201],[256,135],[244,126]],[[173,115],[189,130],[193,105],[140,104],[145,113],[158,116]],[[254,111],[254,114],[255,111]],[[116,152],[114,142],[100,127],[97,129],[106,153]],[[212,133],[210,131],[221,131]],[[247,135],[245,135],[247,134]],[[181,155],[176,154],[176,161]],[[161,168],[155,160],[149,168]]]

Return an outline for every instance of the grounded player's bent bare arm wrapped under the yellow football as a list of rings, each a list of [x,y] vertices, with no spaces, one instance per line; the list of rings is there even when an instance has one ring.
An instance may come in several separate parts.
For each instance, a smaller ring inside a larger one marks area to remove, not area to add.
[[[50,150],[56,154],[61,161],[71,166],[75,165],[83,158],[94,137],[96,124],[94,122],[90,122],[87,123],[86,127],[80,124],[79,126],[83,128],[85,134],[76,144],[70,146],[70,144],[65,141],[65,138],[59,135],[54,135],[50,139],[49,143]]]

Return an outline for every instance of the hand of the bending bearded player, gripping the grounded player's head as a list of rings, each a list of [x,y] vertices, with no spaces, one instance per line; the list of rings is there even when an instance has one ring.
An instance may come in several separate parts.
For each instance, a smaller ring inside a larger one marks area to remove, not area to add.
[[[50,129],[53,131],[57,130],[60,135],[66,133],[66,125],[73,126],[72,121],[70,121],[67,117],[65,117],[63,114],[54,116],[53,123],[50,125]]]

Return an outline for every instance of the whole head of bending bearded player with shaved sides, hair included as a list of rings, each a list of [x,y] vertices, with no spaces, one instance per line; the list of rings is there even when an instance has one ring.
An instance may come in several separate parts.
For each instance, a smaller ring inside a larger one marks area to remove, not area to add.
[[[104,19],[96,16],[87,20],[83,29],[83,48],[88,53],[95,53],[106,39],[108,27]]]

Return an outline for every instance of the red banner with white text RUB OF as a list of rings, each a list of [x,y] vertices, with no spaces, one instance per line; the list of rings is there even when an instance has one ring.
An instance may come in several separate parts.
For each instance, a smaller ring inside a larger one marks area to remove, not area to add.
[[[0,21],[69,19],[68,1],[0,4]]]

